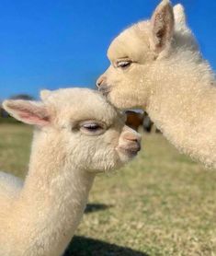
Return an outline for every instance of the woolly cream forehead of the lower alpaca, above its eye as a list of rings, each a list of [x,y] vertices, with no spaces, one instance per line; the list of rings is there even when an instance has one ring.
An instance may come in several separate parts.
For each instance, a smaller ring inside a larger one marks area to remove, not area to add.
[[[52,92],[48,99],[65,120],[74,122],[98,120],[111,124],[119,113],[108,100],[95,90],[87,88],[66,88]]]

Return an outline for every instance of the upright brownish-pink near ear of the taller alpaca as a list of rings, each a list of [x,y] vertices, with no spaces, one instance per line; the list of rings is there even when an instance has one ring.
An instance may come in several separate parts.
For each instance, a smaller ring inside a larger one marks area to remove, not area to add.
[[[170,45],[174,32],[173,7],[168,0],[163,0],[156,7],[151,18],[151,29],[151,45],[153,51],[161,52]]]

